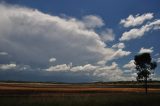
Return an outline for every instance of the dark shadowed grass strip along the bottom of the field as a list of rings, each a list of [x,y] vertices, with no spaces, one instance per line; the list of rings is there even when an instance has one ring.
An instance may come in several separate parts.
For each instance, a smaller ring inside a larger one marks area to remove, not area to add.
[[[159,106],[158,94],[1,96],[1,106]]]

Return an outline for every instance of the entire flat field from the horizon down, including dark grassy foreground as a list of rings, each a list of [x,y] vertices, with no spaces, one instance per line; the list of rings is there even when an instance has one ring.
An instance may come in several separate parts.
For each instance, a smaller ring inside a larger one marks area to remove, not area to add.
[[[160,84],[0,83],[1,106],[158,106]]]

